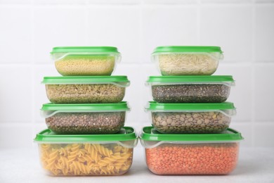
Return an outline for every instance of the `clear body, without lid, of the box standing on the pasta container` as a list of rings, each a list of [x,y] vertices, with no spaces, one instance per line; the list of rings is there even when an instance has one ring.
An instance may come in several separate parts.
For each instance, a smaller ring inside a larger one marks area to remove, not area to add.
[[[126,112],[56,113],[46,118],[56,134],[115,134],[124,127]]]

